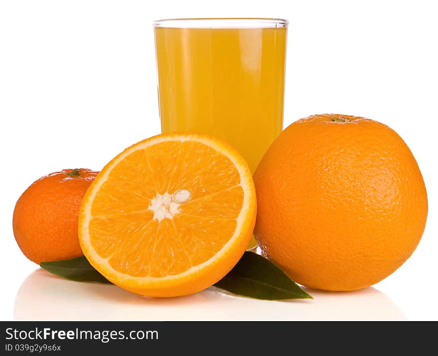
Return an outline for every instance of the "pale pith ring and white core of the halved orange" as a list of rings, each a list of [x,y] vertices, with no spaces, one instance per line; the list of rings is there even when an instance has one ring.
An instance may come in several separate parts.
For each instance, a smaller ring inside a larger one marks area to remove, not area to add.
[[[154,284],[154,282],[158,282],[161,280],[169,280],[169,281],[170,280],[178,280],[178,279],[184,277],[185,275],[196,273],[197,271],[202,270],[206,266],[215,263],[215,261],[217,261],[223,254],[227,253],[227,251],[230,248],[232,248],[235,239],[237,237],[241,236],[243,233],[242,229],[244,227],[245,217],[248,215],[248,211],[249,211],[251,205],[253,204],[253,202],[251,202],[251,199],[250,199],[251,194],[249,194],[249,189],[250,189],[251,185],[253,184],[252,181],[250,180],[251,173],[249,171],[249,168],[247,167],[246,164],[242,164],[242,161],[239,159],[239,156],[234,156],[233,154],[230,154],[228,147],[222,146],[220,144],[220,142],[212,141],[209,138],[204,138],[204,137],[196,135],[196,134],[182,135],[182,136],[175,135],[171,138],[156,136],[156,137],[153,137],[151,139],[146,140],[145,142],[137,143],[137,144],[127,148],[125,151],[120,153],[109,165],[107,165],[104,168],[104,170],[101,172],[101,177],[99,179],[99,182],[96,182],[99,184],[92,185],[91,192],[88,195],[88,200],[89,201],[94,200],[100,187],[108,179],[108,176],[109,176],[111,170],[120,161],[122,161],[126,156],[128,156],[129,154],[131,154],[137,150],[145,149],[149,146],[155,145],[155,144],[160,143],[160,142],[165,142],[165,141],[181,141],[181,142],[182,141],[195,141],[195,142],[204,143],[207,146],[214,148],[219,153],[226,156],[234,164],[234,166],[236,167],[237,171],[239,172],[239,176],[240,176],[239,186],[242,187],[243,192],[244,192],[243,204],[242,204],[242,208],[240,210],[240,213],[239,213],[238,217],[236,218],[236,228],[235,228],[234,234],[232,237],[230,237],[230,239],[223,245],[223,247],[213,257],[211,257],[209,260],[207,260],[199,265],[191,267],[187,271],[184,271],[182,273],[175,274],[175,275],[164,276],[164,277],[150,277],[150,276],[145,276],[145,277],[135,276],[134,277],[134,276],[124,274],[124,273],[121,273],[121,272],[113,269],[113,267],[109,264],[109,258],[101,257],[97,253],[97,251],[93,248],[91,241],[90,241],[89,231],[88,231],[90,220],[93,218],[93,216],[91,215],[91,205],[92,204],[88,204],[85,207],[84,211],[81,212],[82,216],[83,216],[82,224],[80,226],[81,235],[82,235],[82,244],[85,245],[87,247],[87,249],[92,253],[91,256],[90,256],[91,253],[89,253],[87,256],[87,257],[89,257],[90,262],[92,262],[92,264],[97,269],[99,269],[98,268],[99,266],[102,266],[102,267],[105,267],[107,273],[108,273],[108,271],[110,271],[111,274],[107,275],[107,278],[109,278],[111,280],[120,281],[120,282],[121,281],[130,281],[132,284],[136,284],[137,286],[141,286],[142,284],[151,285],[151,284]],[[186,190],[179,190],[179,191],[175,192],[175,194],[173,194],[173,196],[169,195],[168,193],[164,193],[163,195],[160,195],[157,193],[156,197],[151,200],[149,209],[151,209],[154,212],[154,218],[161,221],[162,219],[164,219],[166,217],[173,217],[175,214],[177,214],[179,205],[184,203],[185,201],[189,200],[190,198],[191,198],[191,194],[190,194],[190,192],[188,192]],[[253,196],[252,198],[254,199],[255,196]],[[170,199],[170,201],[169,201],[169,199]],[[167,207],[166,207],[166,204],[167,204]]]

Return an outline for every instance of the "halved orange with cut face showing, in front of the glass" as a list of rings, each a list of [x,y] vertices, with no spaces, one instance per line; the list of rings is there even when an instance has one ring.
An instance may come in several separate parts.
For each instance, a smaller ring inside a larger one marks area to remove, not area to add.
[[[174,132],[112,159],[88,189],[79,239],[114,284],[157,297],[196,293],[237,263],[255,224],[242,156],[211,135]]]

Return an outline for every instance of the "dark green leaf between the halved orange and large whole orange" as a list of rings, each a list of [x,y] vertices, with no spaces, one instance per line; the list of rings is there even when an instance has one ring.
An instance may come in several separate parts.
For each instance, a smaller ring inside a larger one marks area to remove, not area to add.
[[[215,287],[256,299],[313,299],[274,263],[250,251]]]

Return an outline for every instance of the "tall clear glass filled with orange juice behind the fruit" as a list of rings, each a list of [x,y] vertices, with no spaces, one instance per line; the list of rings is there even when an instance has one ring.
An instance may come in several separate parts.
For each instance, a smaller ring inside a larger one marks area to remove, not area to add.
[[[209,132],[252,172],[283,127],[287,22],[181,19],[155,23],[162,132]]]

